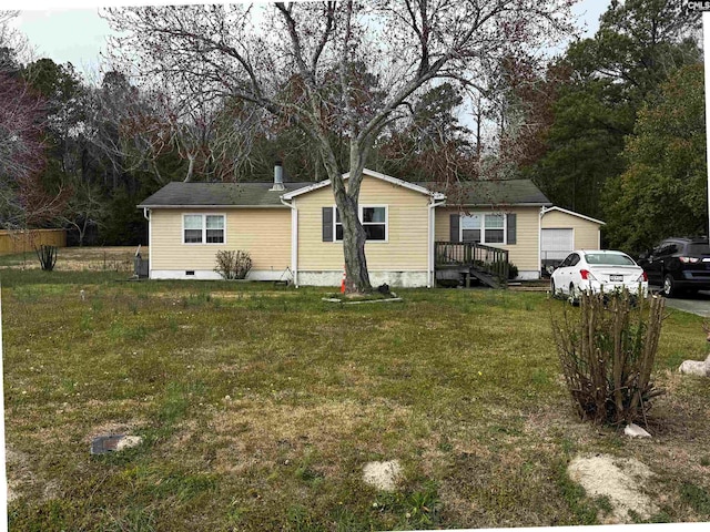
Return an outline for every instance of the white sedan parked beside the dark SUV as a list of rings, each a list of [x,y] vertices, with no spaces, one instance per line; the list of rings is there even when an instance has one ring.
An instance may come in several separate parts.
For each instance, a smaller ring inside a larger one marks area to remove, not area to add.
[[[552,296],[567,296],[572,301],[582,291],[608,294],[622,288],[637,296],[648,295],[648,277],[643,268],[621,252],[572,252],[550,276]]]

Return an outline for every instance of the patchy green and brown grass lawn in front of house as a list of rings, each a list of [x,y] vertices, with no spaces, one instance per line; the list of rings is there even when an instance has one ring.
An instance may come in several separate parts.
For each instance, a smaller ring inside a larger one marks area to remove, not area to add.
[[[126,277],[0,270],[11,530],[592,524],[608,501],[565,472],[587,452],[657,473],[652,520],[710,520],[710,385],[672,371],[704,358],[701,318],[669,311],[669,393],[641,441],[576,418],[550,331],[565,304],[545,294],[344,306],[322,301],[332,289]],[[143,443],[90,456],[112,432]],[[396,493],[363,483],[392,459]]]

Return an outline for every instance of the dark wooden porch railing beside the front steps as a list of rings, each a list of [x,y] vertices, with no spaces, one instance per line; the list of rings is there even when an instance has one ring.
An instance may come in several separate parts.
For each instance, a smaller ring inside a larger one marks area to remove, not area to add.
[[[434,256],[437,268],[469,266],[508,282],[508,250],[485,246],[475,242],[435,242]]]

